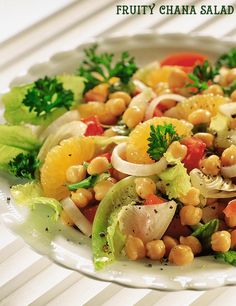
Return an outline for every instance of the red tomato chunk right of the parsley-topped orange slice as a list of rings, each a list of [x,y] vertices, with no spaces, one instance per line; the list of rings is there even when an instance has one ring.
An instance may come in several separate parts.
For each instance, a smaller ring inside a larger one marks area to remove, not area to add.
[[[181,141],[187,147],[187,154],[183,159],[183,163],[188,171],[199,168],[199,162],[203,158],[206,144],[198,138],[190,137]]]

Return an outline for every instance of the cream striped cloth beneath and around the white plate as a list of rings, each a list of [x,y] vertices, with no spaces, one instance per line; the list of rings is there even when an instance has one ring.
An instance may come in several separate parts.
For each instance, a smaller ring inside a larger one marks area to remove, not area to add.
[[[236,1],[0,0],[0,92],[32,64],[92,36],[155,29],[198,32],[236,41],[236,18],[203,15],[116,15],[117,4],[234,5]],[[19,4],[20,3],[20,4]],[[50,3],[50,4],[49,4]],[[9,22],[10,20],[10,22]],[[12,26],[12,23],[13,24]],[[160,292],[89,279],[36,254],[0,221],[0,305],[233,306],[236,287]]]

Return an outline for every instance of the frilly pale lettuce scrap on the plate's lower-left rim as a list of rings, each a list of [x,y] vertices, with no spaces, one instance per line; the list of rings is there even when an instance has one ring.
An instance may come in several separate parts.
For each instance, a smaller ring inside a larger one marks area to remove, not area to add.
[[[53,221],[59,218],[62,211],[59,201],[43,196],[42,188],[38,182],[15,185],[11,188],[11,194],[17,204],[28,206],[30,209],[36,209],[38,205],[50,207],[54,210]]]

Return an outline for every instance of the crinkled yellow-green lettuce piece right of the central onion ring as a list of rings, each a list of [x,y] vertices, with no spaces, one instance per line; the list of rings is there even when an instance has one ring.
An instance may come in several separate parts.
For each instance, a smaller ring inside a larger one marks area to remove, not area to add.
[[[168,152],[164,156],[170,164],[166,170],[159,174],[159,177],[162,180],[168,198],[170,200],[177,199],[181,195],[187,194],[191,188],[190,176],[180,160],[174,159]]]

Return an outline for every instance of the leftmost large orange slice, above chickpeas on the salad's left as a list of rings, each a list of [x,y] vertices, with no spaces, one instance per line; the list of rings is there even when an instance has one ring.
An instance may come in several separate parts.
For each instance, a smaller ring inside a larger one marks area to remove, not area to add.
[[[66,170],[93,158],[95,145],[89,137],[71,137],[53,147],[41,168],[41,184],[45,196],[61,200],[69,196],[65,186]]]

